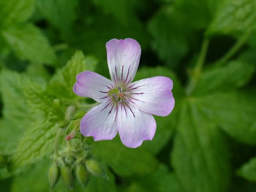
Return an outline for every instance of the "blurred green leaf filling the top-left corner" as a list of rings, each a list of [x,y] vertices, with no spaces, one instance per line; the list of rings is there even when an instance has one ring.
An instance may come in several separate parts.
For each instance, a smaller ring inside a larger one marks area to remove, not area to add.
[[[34,0],[0,0],[0,26],[24,22],[34,11]]]

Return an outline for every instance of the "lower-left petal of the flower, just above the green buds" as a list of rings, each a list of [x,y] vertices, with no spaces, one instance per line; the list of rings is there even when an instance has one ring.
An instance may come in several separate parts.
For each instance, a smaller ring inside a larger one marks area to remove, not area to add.
[[[80,122],[80,132],[94,141],[113,139],[117,131],[117,108],[111,100],[92,108]]]

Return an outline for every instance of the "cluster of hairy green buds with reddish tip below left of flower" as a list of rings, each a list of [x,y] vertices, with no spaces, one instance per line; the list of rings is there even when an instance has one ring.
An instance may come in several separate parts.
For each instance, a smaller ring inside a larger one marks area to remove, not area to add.
[[[58,102],[55,102],[55,105],[58,106]],[[100,164],[92,158],[89,149],[83,146],[83,136],[81,136],[80,142],[77,137],[77,135],[80,134],[80,119],[84,113],[84,111],[76,111],[74,106],[68,106],[66,112],[61,117],[63,121],[58,120],[59,123],[66,122],[63,124],[66,124],[66,126],[64,126],[66,127],[66,145],[59,147],[60,140],[64,133],[64,130],[62,130],[64,127],[61,126],[60,134],[56,136],[55,140],[54,162],[48,171],[48,180],[51,188],[58,183],[60,178],[62,178],[66,187],[72,190],[75,186],[75,180],[77,180],[80,185],[86,187],[90,175],[104,176]]]

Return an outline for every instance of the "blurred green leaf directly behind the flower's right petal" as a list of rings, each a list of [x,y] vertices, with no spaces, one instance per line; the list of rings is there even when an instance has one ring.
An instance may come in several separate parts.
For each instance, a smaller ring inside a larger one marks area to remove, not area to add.
[[[172,90],[175,98],[175,107],[167,117],[154,116],[156,120],[156,134],[152,141],[144,141],[143,146],[153,154],[157,154],[170,140],[176,127],[177,111],[179,108],[179,100],[184,96],[182,86],[176,75],[168,68],[140,68],[136,73],[135,80],[149,78],[153,76],[166,76],[172,79],[174,88]]]

